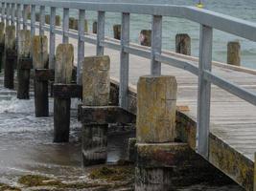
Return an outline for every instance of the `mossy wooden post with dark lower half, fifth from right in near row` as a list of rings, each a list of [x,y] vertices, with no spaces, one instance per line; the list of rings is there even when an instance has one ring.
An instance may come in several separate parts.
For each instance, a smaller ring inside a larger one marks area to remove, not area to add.
[[[17,63],[17,98],[30,98],[31,59],[31,32],[21,30],[18,32],[18,63]]]

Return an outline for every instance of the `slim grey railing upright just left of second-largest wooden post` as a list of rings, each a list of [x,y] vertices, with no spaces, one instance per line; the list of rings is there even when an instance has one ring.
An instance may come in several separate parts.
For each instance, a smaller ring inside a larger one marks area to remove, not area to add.
[[[84,42],[81,37],[84,35],[84,19],[85,11],[79,11],[79,41],[78,41],[78,68],[77,68],[77,83],[81,84],[81,66],[84,59]]]

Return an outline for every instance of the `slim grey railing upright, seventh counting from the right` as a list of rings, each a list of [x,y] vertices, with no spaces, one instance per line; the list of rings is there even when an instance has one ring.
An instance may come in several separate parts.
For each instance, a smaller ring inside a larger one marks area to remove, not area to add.
[[[50,53],[49,68],[55,69],[55,26],[56,26],[56,8],[51,8],[50,13]]]

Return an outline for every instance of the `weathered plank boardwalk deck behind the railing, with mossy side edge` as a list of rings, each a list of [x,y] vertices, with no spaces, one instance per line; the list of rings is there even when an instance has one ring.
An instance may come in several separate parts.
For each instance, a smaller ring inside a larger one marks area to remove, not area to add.
[[[48,33],[46,32],[46,34]],[[57,35],[56,40],[58,45],[58,43],[61,43],[62,37]],[[77,40],[69,39],[69,42],[75,47],[75,63],[77,63]],[[85,43],[85,56],[95,54],[96,47]],[[105,54],[110,56],[111,77],[119,78],[119,53],[105,49]],[[189,60],[194,59],[192,57],[187,58]],[[135,55],[130,55],[129,59],[129,83],[136,85],[139,76],[150,74],[151,61]],[[248,74],[239,70],[213,66],[213,72],[247,90],[256,92],[255,71]],[[178,84],[177,105],[188,106],[189,111],[183,112],[197,121],[198,76],[164,64],[162,74],[175,75]],[[136,87],[134,86],[134,88]],[[196,141],[195,135],[191,136],[193,141]],[[218,141],[216,141],[217,139]],[[195,142],[191,145],[195,146]],[[216,148],[218,148],[218,151]],[[244,188],[252,190],[255,151],[255,106],[221,90],[217,86],[212,86],[209,160],[233,180],[243,185]]]

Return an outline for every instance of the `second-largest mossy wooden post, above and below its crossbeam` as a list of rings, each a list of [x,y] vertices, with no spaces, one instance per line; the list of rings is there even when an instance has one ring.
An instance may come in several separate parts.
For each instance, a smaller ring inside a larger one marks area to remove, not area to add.
[[[84,106],[107,106],[110,95],[109,57],[85,57],[82,68]],[[107,157],[107,124],[82,124],[83,165],[104,163]]]

